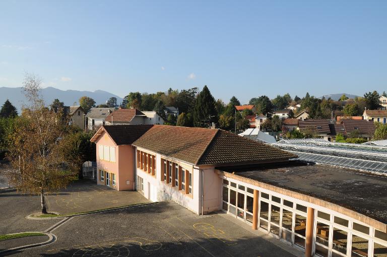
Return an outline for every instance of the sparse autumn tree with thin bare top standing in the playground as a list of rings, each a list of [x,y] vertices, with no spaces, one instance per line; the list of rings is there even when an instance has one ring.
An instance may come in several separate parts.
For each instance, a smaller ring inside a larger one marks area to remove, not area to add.
[[[15,171],[11,183],[22,192],[40,195],[41,211],[47,213],[45,194],[66,187],[75,178],[77,160],[66,160],[61,141],[61,111],[50,111],[40,95],[41,80],[26,73],[23,92],[29,102],[15,121],[8,159]]]

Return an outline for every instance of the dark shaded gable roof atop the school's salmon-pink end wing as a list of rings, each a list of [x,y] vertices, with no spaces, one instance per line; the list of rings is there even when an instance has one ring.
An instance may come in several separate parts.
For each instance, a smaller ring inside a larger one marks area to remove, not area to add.
[[[151,129],[153,125],[105,125],[91,138],[91,142],[97,141],[102,131],[106,131],[110,138],[119,145],[132,145],[137,139],[139,139],[144,133]]]

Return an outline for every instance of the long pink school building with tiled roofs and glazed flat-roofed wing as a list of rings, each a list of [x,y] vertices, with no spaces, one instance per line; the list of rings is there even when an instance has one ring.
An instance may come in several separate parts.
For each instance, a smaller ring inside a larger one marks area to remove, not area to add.
[[[217,129],[110,125],[91,141],[98,184],[226,212],[305,256],[387,256],[384,175],[299,161]]]

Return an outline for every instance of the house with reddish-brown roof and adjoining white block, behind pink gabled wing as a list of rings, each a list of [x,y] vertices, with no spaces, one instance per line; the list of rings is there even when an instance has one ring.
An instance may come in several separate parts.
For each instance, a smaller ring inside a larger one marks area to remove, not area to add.
[[[164,124],[155,111],[142,112],[138,109],[117,109],[106,116],[106,125]]]

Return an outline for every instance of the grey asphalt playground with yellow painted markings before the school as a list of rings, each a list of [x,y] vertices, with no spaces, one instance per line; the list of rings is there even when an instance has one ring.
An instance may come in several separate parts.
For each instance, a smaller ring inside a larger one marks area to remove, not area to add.
[[[99,194],[99,190],[94,189],[87,192],[92,191],[94,194]],[[67,194],[69,193],[67,191],[66,194],[59,194],[59,196],[76,198],[85,195],[83,191],[79,195],[74,194],[75,189],[71,192],[72,194]],[[54,227],[50,232],[56,236],[56,241],[51,244],[6,253],[6,255],[222,257],[302,255],[278,240],[274,240],[273,243],[270,239],[257,236],[250,229],[236,224],[236,219],[225,218],[224,214],[200,216],[173,202],[149,203],[139,192],[123,193],[132,199],[132,204],[136,201],[145,204],[66,219],[27,220],[24,218],[26,215],[39,211],[39,198],[21,196],[12,190],[0,191],[0,215],[4,217],[0,220],[1,234],[45,231]],[[60,206],[63,201],[53,202],[52,199],[54,198],[49,200],[49,210],[58,211],[54,206],[57,203]],[[113,198],[109,196],[105,199]],[[122,205],[121,198],[115,199],[119,202],[107,201],[106,205]],[[66,204],[62,205],[62,208],[69,207],[68,202],[64,203]],[[83,206],[82,203],[84,202],[76,200],[77,205]],[[86,203],[88,203],[87,206],[91,205],[89,202]],[[74,211],[71,209],[69,212]],[[58,222],[59,225],[55,226]],[[34,238],[25,237],[20,240],[28,244],[32,239]],[[1,248],[4,249],[7,248],[7,243],[12,241],[6,240],[0,243],[2,243]]]

